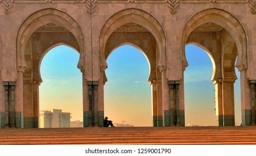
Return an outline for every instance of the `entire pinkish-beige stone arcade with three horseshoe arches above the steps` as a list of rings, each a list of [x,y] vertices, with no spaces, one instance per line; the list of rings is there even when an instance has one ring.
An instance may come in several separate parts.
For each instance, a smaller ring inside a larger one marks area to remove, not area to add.
[[[185,126],[187,44],[203,48],[213,62],[217,125],[235,124],[235,68],[241,75],[243,125],[255,121],[249,114],[256,108],[254,0],[2,0],[0,4],[1,128],[6,110],[16,111],[9,124],[38,128],[40,63],[59,45],[80,53],[84,127],[94,121],[103,125],[106,59],[122,45],[139,48],[150,64],[152,126],[174,126],[176,119]],[[179,85],[173,89],[168,82]],[[9,104],[12,110],[7,109]],[[89,113],[92,104],[95,110]],[[179,116],[174,116],[176,111]]]

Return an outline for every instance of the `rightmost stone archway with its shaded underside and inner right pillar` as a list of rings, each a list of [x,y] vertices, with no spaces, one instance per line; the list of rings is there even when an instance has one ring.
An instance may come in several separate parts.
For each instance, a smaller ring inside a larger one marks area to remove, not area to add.
[[[198,27],[206,25],[206,23],[220,26],[221,29],[213,32],[199,31]],[[196,36],[204,39],[195,39]],[[213,36],[215,36],[215,39],[213,39]],[[212,81],[215,84],[216,91],[216,120],[217,125],[220,126],[235,125],[234,82],[237,78],[234,66],[236,56],[238,56],[236,67],[241,72],[241,83],[248,84],[245,78],[247,69],[246,40],[246,33],[238,19],[220,9],[213,8],[199,12],[190,18],[184,27],[181,39],[183,71],[188,66],[184,54],[185,43],[187,42],[197,42],[205,47],[210,47],[210,51],[216,60],[216,71]],[[247,91],[241,90],[242,99],[245,92]],[[242,106],[245,104],[242,101]]]

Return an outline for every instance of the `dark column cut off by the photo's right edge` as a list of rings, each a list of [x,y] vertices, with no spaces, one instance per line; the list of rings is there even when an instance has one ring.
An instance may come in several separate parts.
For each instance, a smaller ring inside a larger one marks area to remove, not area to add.
[[[255,84],[256,84],[256,80],[250,80],[249,81],[249,84],[250,84],[250,95],[251,95],[251,98],[250,98],[250,106],[251,106],[251,125],[255,125],[255,115],[256,115],[256,112],[255,112]]]

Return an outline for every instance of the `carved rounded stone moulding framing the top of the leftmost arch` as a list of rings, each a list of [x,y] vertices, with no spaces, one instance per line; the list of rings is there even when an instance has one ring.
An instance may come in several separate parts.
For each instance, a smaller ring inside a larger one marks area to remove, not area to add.
[[[58,11],[57,9],[43,9],[35,12],[28,17],[21,25],[17,34],[17,67],[18,70],[24,71],[27,67],[25,61],[25,46],[29,37],[39,27],[46,25],[47,23],[54,22],[69,30],[76,38],[78,45],[80,46],[80,59],[78,61],[78,67],[81,71],[84,69],[84,43],[83,33],[78,23],[70,17],[68,14]]]

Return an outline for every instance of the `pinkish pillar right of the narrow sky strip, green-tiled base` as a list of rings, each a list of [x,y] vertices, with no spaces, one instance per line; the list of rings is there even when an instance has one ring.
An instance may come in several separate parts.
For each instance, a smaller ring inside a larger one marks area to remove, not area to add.
[[[256,80],[254,80],[256,81]],[[241,82],[241,114],[242,114],[242,124],[251,125],[252,124],[252,110],[251,110],[251,90],[250,84],[247,79],[246,70],[240,71],[240,82]]]

